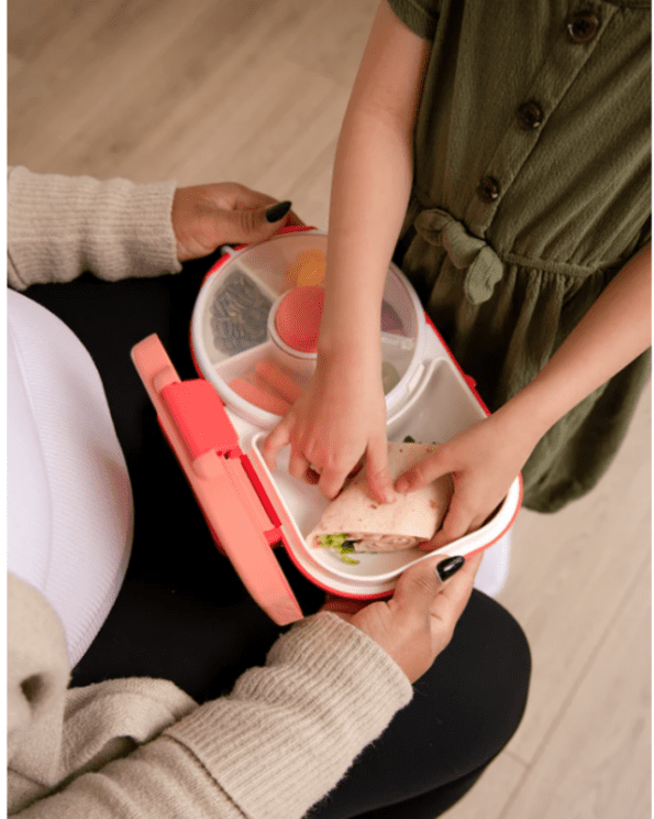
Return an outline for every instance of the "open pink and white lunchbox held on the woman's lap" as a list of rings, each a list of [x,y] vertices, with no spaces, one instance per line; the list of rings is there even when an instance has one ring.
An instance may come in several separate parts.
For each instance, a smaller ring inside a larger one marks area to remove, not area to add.
[[[132,350],[213,538],[254,600],[279,624],[303,615],[275,556],[276,546],[284,546],[317,586],[363,600],[388,597],[409,565],[430,557],[419,549],[357,554],[358,563],[350,565],[333,549],[310,548],[304,537],[328,499],[290,476],[288,448],[278,456],[274,472],[263,459],[263,440],[280,419],[271,410],[281,411],[284,398],[277,394],[281,404],[276,404],[274,390],[263,395],[266,383],[257,364],[266,362],[296,389],[311,376],[315,321],[298,310],[297,331],[289,329],[288,306],[309,293],[297,290],[320,285],[325,252],[326,234],[313,228],[287,229],[262,244],[230,249],[207,274],[193,309],[191,348],[199,379],[179,380],[157,336]],[[384,291],[380,334],[389,440],[410,436],[442,443],[488,414],[474,382],[461,371],[393,264]],[[488,548],[508,533],[521,499],[518,477],[481,528],[441,552],[470,555]]]

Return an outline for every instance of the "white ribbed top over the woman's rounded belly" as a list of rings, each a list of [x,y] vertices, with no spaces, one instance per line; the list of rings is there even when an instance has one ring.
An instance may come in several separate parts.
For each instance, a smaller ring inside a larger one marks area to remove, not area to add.
[[[132,490],[99,373],[81,342],[11,290],[7,323],[8,570],[57,612],[73,667],[122,583]]]

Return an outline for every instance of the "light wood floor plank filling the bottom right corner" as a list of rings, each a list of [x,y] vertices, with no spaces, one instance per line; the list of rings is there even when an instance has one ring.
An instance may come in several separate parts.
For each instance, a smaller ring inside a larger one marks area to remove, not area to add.
[[[649,819],[650,569],[641,570],[502,819]]]

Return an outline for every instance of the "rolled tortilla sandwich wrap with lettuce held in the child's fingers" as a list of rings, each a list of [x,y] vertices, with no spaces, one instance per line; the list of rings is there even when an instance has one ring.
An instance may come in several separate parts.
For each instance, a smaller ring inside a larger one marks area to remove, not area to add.
[[[433,444],[388,444],[390,476],[395,481],[407,469],[433,452]],[[446,474],[393,503],[379,503],[368,488],[365,469],[325,509],[307,536],[312,546],[333,546],[345,552],[400,552],[429,540],[441,525],[453,492]],[[320,538],[320,539],[318,539]]]

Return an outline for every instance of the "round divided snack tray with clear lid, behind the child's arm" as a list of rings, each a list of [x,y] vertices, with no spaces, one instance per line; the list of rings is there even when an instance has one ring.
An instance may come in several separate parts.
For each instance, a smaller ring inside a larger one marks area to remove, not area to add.
[[[326,252],[326,233],[314,228],[280,231],[262,244],[230,250],[207,274],[193,308],[197,369],[231,411],[262,429],[271,429],[280,413],[246,401],[230,384],[250,376],[263,360],[271,361],[298,386],[307,384],[315,356],[289,349],[274,325],[277,306],[293,290],[287,271],[312,251]],[[392,413],[412,391],[426,336],[418,296],[393,264],[386,279],[380,334],[387,410]]]

